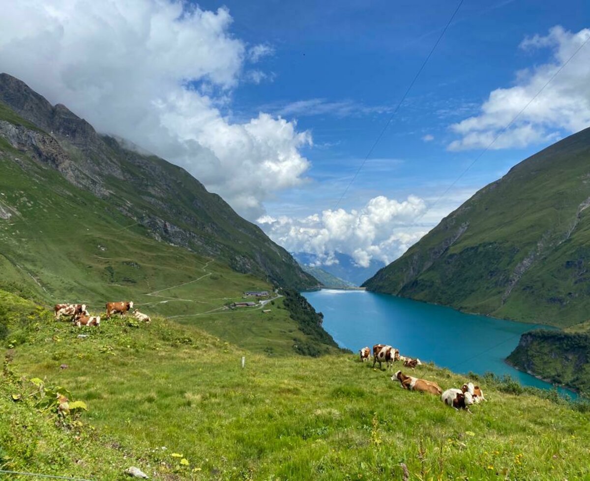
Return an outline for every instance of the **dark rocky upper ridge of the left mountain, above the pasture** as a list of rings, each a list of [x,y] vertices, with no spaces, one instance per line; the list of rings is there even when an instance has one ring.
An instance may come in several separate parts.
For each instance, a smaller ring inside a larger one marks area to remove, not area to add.
[[[317,284],[286,250],[182,168],[97,134],[64,105],[54,107],[7,74],[0,74],[2,102],[0,137],[107,201],[127,225],[280,286]]]

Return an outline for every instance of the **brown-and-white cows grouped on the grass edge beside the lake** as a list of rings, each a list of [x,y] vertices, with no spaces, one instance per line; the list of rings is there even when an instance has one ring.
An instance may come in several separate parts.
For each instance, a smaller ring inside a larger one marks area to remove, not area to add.
[[[363,347],[359,352],[361,361],[366,362],[369,360],[369,357],[371,357],[371,350],[369,350],[369,347]],[[410,367],[411,369],[422,364],[419,359],[400,356],[398,349],[386,344],[375,344],[375,346],[373,346],[373,367],[375,367],[376,363],[379,363],[379,368],[381,369],[381,363],[386,363],[386,367],[389,368],[392,367],[396,361],[402,361],[405,367]],[[435,394],[441,397],[442,402],[457,410],[466,409],[469,411],[469,406],[471,404],[486,400],[480,387],[474,386],[473,383],[470,382],[463,384],[461,389],[451,388],[443,392],[437,383],[426,379],[419,379],[418,377],[406,376],[402,371],[397,371],[391,376],[392,381],[396,379],[399,381],[403,389]]]

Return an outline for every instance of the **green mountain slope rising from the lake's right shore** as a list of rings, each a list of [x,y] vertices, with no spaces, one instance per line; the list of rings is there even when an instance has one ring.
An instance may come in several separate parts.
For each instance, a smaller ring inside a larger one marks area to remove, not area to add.
[[[590,311],[590,129],[513,167],[365,282],[472,313],[571,326]]]

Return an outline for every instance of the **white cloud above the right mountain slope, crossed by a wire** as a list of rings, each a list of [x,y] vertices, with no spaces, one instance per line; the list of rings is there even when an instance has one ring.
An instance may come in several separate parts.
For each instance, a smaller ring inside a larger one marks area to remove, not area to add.
[[[588,38],[588,28],[573,33],[561,26],[551,28],[547,35],[525,38],[520,48],[524,51],[549,48],[549,62],[517,72],[514,86],[492,91],[481,105],[480,114],[451,125],[451,130],[461,138],[451,142],[448,150],[488,147]],[[577,52],[491,148],[526,147],[535,142],[555,140],[589,125],[590,42]]]

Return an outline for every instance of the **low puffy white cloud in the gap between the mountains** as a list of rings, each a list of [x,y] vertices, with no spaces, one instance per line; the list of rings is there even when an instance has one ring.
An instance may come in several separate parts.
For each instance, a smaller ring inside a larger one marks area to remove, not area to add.
[[[257,222],[278,244],[316,254],[320,264],[335,263],[339,252],[368,267],[373,259],[394,261],[418,241],[426,231],[412,223],[425,211],[424,200],[415,195],[401,202],[380,195],[360,210],[329,209],[299,219],[264,215]]]

